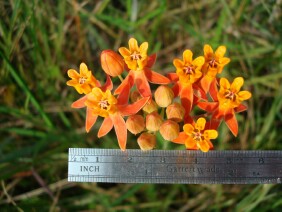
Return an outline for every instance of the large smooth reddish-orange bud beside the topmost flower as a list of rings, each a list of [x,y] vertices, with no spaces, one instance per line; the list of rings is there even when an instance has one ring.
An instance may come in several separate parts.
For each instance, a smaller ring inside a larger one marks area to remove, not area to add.
[[[124,70],[124,61],[122,57],[112,50],[104,50],[101,53],[101,66],[106,74],[116,77]]]

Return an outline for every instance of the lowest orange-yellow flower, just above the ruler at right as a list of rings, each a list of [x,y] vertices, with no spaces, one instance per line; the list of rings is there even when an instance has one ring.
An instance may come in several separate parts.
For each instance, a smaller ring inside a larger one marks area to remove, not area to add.
[[[174,143],[185,144],[187,149],[200,149],[203,152],[208,152],[213,148],[210,139],[215,139],[218,136],[216,130],[205,130],[206,120],[199,118],[194,126],[185,124],[184,132],[181,132],[178,138],[174,139]]]

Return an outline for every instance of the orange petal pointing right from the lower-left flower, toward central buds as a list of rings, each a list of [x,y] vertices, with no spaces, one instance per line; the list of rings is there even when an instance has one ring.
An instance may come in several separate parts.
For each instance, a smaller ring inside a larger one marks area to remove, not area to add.
[[[136,114],[146,105],[149,99],[150,97],[144,97],[130,105],[118,105],[118,110],[123,116]]]

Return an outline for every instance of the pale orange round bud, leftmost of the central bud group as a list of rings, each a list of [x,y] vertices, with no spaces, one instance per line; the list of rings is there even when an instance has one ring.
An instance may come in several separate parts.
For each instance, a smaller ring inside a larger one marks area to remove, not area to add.
[[[132,134],[136,135],[145,129],[145,120],[141,115],[129,116],[126,120],[126,128]]]

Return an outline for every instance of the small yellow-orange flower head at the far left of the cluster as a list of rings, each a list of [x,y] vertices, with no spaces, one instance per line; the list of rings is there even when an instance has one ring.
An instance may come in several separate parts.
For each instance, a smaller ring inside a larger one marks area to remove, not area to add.
[[[92,88],[100,86],[99,81],[88,70],[85,63],[80,64],[79,73],[74,69],[69,69],[68,76],[71,80],[67,81],[67,85],[73,86],[80,94],[88,94]]]

